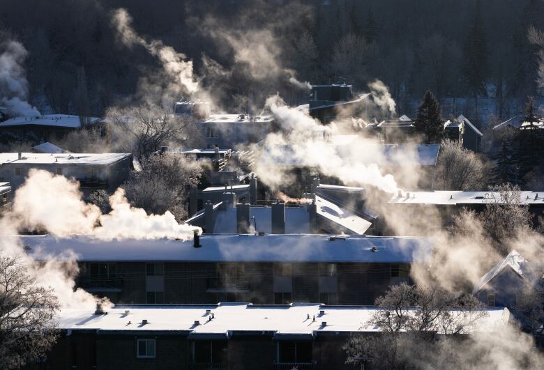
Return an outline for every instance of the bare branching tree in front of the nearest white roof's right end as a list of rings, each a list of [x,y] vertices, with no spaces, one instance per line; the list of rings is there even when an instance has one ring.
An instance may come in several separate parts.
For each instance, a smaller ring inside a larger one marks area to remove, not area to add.
[[[380,309],[364,325],[380,332],[350,338],[344,346],[348,364],[368,364],[372,369],[414,367],[438,353],[443,341],[470,332],[486,315],[476,298],[439,286],[391,286],[375,303]]]

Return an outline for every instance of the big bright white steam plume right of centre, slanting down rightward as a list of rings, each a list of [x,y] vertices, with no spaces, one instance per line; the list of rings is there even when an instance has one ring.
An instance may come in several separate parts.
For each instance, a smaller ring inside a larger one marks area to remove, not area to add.
[[[372,185],[385,192],[397,192],[393,176],[379,167],[389,160],[384,157],[381,144],[358,135],[335,137],[340,132],[334,124],[317,123],[304,111],[288,107],[278,95],[266,100],[266,107],[280,125],[280,132],[267,135],[261,143],[255,172],[264,183],[271,187],[290,185],[287,168],[295,165],[315,168],[349,185]],[[342,143],[343,139],[348,141]],[[407,151],[395,159],[414,164],[415,155]],[[285,171],[282,163],[287,164]]]

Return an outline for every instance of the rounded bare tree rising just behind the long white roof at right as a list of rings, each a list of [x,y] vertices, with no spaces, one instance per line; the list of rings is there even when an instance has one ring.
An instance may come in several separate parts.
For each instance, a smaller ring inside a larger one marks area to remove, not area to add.
[[[440,147],[437,187],[441,190],[485,189],[490,176],[490,164],[457,141],[444,140]]]

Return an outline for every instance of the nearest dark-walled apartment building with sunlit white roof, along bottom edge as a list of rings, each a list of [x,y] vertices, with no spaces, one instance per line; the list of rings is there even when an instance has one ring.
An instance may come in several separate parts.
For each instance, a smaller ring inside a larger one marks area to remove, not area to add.
[[[353,369],[342,346],[377,307],[317,304],[115,305],[63,309],[45,369]],[[463,309],[451,310],[462,315]],[[486,307],[461,335],[501,332],[508,309]],[[409,308],[406,311],[410,311]],[[415,311],[415,309],[414,309]]]

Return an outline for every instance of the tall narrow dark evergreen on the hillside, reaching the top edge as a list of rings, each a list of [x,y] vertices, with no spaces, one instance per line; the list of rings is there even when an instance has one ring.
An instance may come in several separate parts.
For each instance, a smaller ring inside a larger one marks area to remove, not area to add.
[[[476,10],[464,45],[463,72],[467,90],[476,100],[478,95],[487,95],[485,77],[488,68],[488,46],[483,27],[480,0],[476,1]]]

